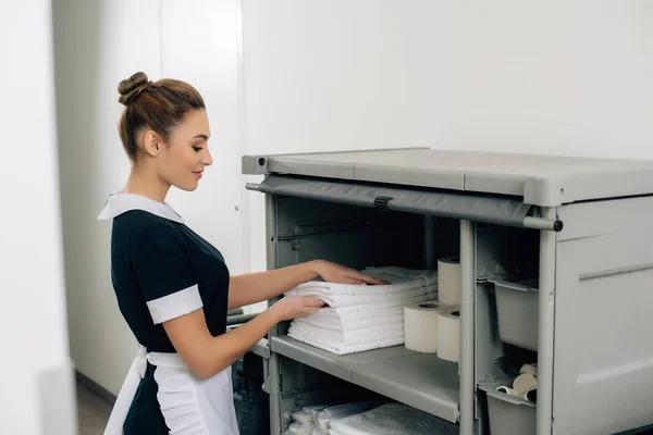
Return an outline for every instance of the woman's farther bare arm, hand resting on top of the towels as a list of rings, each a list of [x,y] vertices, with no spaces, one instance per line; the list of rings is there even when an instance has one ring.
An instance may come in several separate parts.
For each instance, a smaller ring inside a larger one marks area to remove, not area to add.
[[[272,271],[232,276],[229,284],[229,309],[275,298],[318,276],[331,283],[384,284],[383,281],[353,269],[313,260]]]

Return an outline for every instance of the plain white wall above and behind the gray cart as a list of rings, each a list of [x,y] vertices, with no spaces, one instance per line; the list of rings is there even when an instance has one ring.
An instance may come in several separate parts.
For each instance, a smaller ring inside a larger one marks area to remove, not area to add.
[[[646,0],[244,0],[243,22],[246,153],[653,158]],[[247,194],[252,269],[261,197]]]

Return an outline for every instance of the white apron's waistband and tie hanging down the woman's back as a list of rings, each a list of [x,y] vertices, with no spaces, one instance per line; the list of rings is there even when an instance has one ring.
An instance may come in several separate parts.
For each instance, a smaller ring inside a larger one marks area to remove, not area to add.
[[[136,358],[134,358],[130,371],[125,376],[125,381],[120,388],[120,393],[118,394],[118,398],[111,410],[111,415],[109,417],[109,422],[107,423],[107,427],[104,427],[104,435],[122,435],[123,425],[127,418],[127,413],[130,412],[130,408],[132,407],[132,402],[134,401],[134,397],[136,396],[136,390],[138,389],[138,385],[140,385],[140,380],[145,377],[148,361],[152,365],[172,369],[187,368],[178,353],[148,353],[145,346],[138,345],[138,353],[136,355]]]

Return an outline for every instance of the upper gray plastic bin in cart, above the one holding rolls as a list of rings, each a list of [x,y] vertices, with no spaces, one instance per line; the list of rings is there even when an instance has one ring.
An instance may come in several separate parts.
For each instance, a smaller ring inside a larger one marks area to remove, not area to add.
[[[494,283],[501,340],[538,351],[538,279],[491,282]]]

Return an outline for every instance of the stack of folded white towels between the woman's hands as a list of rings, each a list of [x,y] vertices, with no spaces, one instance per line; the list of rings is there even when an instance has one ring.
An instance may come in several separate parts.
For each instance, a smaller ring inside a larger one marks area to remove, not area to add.
[[[396,266],[364,273],[386,285],[304,283],[286,296],[313,296],[329,307],[291,323],[288,336],[336,355],[404,344],[404,306],[438,298],[438,273]]]

